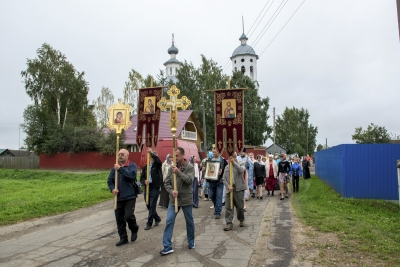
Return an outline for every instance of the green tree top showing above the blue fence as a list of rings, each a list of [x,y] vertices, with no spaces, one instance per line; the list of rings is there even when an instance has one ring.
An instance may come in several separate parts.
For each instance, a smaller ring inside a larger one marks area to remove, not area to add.
[[[399,136],[388,133],[385,127],[371,123],[366,130],[357,127],[351,138],[357,144],[387,144],[392,139],[399,139]]]

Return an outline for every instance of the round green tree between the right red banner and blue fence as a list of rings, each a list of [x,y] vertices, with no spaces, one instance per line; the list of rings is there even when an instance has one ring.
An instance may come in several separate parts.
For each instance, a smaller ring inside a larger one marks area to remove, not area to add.
[[[307,153],[313,154],[317,143],[318,128],[309,123],[310,114],[308,110],[295,107],[286,107],[283,114],[276,119],[276,142],[288,149],[288,153],[298,153],[304,156]],[[308,128],[308,130],[307,130]],[[301,154],[295,150],[296,144],[302,148]]]

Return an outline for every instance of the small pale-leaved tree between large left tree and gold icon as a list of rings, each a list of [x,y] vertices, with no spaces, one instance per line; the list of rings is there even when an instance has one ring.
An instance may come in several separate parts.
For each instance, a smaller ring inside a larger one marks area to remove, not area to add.
[[[93,101],[94,113],[97,125],[100,128],[106,127],[109,120],[108,107],[114,103],[114,95],[108,87],[101,88],[101,95]]]

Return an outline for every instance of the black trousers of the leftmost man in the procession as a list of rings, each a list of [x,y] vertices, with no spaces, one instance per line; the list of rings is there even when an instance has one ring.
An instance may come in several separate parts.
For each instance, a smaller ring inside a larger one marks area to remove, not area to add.
[[[135,204],[136,198],[117,201],[117,209],[114,211],[114,213],[120,239],[128,238],[126,224],[128,224],[128,227],[132,233],[137,233],[139,231],[139,226],[136,223],[135,217]]]

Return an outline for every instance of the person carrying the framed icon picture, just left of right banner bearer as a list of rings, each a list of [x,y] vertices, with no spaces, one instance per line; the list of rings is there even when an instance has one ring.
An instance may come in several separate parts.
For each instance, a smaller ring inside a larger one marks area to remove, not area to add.
[[[224,184],[222,182],[222,176],[224,175],[225,166],[228,164],[226,160],[218,155],[217,148],[215,145],[212,146],[212,154],[213,157],[209,160],[211,161],[219,161],[220,166],[218,170],[218,180],[209,180],[208,181],[208,196],[214,204],[214,216],[215,219],[221,218],[222,212],[222,194],[224,190]]]

